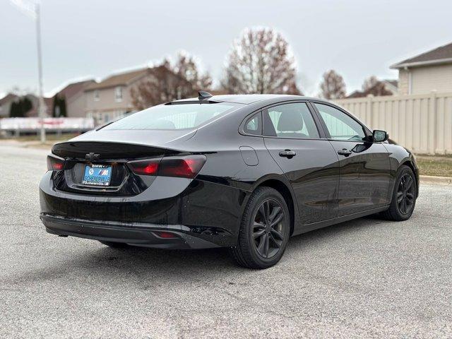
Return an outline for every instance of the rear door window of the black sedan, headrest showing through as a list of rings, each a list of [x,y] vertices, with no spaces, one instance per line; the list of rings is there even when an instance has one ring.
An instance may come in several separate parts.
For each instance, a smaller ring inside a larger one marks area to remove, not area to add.
[[[271,107],[266,112],[265,132],[280,138],[319,138],[314,119],[304,102]]]

